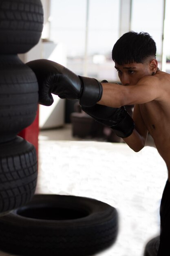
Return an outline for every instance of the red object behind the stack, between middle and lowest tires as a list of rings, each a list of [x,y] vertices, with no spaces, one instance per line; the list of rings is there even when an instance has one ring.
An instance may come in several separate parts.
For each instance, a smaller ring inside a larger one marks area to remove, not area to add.
[[[37,151],[38,157],[38,134],[39,134],[39,111],[37,111],[37,115],[33,123],[26,127],[24,130],[20,131],[18,136],[26,139],[31,144],[33,144]]]

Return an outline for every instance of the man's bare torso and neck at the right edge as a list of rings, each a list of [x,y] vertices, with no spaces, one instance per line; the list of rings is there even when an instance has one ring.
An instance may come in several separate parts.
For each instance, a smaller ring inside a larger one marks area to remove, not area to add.
[[[139,108],[146,128],[170,172],[170,74],[158,71],[155,77],[160,80],[163,97],[159,101],[140,104]]]

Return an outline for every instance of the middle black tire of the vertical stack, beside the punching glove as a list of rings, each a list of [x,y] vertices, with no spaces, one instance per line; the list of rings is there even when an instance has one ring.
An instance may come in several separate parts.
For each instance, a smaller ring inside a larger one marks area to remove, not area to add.
[[[0,55],[0,142],[32,124],[38,109],[38,82],[17,55]]]

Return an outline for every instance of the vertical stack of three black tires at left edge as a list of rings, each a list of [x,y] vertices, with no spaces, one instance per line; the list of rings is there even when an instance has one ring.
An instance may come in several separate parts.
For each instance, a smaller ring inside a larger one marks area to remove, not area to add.
[[[18,54],[40,40],[40,0],[0,0],[0,216],[31,200],[37,183],[35,147],[17,136],[38,108],[38,83]]]

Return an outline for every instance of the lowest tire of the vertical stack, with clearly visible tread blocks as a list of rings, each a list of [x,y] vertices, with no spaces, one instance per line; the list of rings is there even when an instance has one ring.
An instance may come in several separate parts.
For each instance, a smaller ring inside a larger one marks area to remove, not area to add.
[[[21,137],[0,144],[0,214],[29,202],[37,184],[35,147]]]

